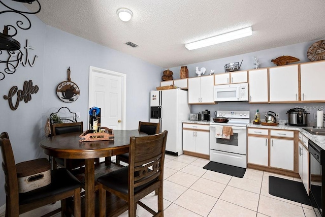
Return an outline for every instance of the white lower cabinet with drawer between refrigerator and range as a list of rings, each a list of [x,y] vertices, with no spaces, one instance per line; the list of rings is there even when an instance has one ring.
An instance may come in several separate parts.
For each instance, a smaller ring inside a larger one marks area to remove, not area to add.
[[[209,125],[183,124],[183,150],[210,154]]]

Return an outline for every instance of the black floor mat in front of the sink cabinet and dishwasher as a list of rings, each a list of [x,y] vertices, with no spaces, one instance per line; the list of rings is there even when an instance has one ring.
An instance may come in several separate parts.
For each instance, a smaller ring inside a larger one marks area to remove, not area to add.
[[[304,184],[299,181],[269,176],[269,194],[311,206]]]

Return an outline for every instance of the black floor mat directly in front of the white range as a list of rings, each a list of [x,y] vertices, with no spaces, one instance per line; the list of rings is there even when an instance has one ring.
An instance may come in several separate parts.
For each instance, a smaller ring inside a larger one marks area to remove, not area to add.
[[[218,173],[223,173],[226,175],[236,176],[238,178],[244,177],[244,174],[246,172],[245,168],[235,167],[235,166],[221,164],[212,161],[210,161],[207,165],[205,165],[203,169],[211,170]]]

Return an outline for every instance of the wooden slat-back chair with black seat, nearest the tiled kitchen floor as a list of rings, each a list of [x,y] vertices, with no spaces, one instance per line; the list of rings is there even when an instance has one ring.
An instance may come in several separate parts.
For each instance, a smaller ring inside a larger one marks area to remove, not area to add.
[[[137,204],[155,216],[164,216],[163,181],[167,131],[144,137],[131,137],[128,166],[99,177],[100,216],[106,216],[106,191],[128,202],[128,216],[136,216]],[[140,199],[157,190],[158,211]]]

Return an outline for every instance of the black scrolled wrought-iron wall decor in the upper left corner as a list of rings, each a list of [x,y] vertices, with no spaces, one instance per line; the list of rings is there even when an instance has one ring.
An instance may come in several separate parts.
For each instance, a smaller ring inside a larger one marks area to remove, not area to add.
[[[17,27],[20,28],[20,29],[23,29],[23,30],[29,29],[31,27],[31,22],[30,22],[30,20],[28,19],[28,17],[25,14],[37,14],[37,13],[39,13],[41,11],[41,4],[39,3],[38,0],[13,0],[13,1],[28,3],[28,4],[31,4],[32,2],[36,1],[38,3],[39,9],[36,12],[29,12],[29,11],[18,11],[16,9],[10,8],[6,4],[4,4],[2,1],[0,1],[0,4],[2,4],[3,6],[5,6],[8,9],[8,10],[5,10],[5,11],[0,11],[0,15],[5,14],[5,13],[15,13],[15,14],[21,15],[28,22],[27,22],[27,24],[25,24],[22,20],[18,20],[16,22]],[[3,33],[0,33],[0,55],[2,55],[3,51],[5,50],[5,51],[8,51],[8,54],[10,56],[12,56],[12,55],[19,56],[18,54],[16,54],[16,51],[17,50],[20,51],[20,43],[12,38],[12,37],[16,36],[17,33],[18,33],[18,29],[15,26],[13,26],[11,24],[8,24],[8,25],[4,26]],[[20,53],[21,53],[21,51],[20,51]],[[12,60],[11,59],[4,60],[3,58],[0,57],[0,64],[7,64],[7,68],[5,69],[5,73],[7,73],[7,74],[15,73],[15,70],[13,72],[9,71],[8,66],[10,65],[12,68],[16,69],[14,67],[14,64],[16,62],[18,62],[18,61],[21,61],[23,55],[20,55],[19,57],[20,58],[12,59]],[[2,74],[2,75],[0,75],[0,80],[3,80],[5,78],[5,74],[3,72],[0,72],[0,74]]]

